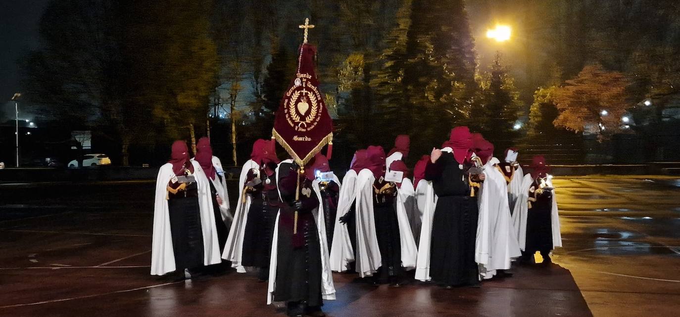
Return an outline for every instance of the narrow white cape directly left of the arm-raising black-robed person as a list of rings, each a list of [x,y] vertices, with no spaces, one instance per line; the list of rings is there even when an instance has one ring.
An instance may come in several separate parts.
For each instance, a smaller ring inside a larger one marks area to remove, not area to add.
[[[425,282],[432,280],[430,277],[430,243],[432,242],[432,219],[434,219],[435,206],[437,206],[437,195],[435,195],[432,182],[421,179],[415,187],[415,198],[422,215],[415,279]]]

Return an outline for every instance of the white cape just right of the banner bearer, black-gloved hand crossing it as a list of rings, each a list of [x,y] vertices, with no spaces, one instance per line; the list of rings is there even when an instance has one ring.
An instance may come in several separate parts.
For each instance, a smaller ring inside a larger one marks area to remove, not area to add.
[[[343,217],[354,204],[356,199],[356,172],[349,170],[342,180],[342,187],[338,195],[338,209],[335,216],[335,229],[333,231],[333,243],[330,245],[330,269],[335,272],[344,272],[350,269],[350,262],[354,261],[354,249],[350,232],[347,225],[340,223]]]

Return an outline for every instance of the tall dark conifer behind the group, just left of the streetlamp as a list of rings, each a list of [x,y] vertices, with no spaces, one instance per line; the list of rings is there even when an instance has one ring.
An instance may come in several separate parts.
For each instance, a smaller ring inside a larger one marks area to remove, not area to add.
[[[371,82],[379,109],[404,123],[388,128],[418,138],[414,151],[425,153],[469,118],[476,90],[473,37],[463,1],[403,1],[396,24]]]

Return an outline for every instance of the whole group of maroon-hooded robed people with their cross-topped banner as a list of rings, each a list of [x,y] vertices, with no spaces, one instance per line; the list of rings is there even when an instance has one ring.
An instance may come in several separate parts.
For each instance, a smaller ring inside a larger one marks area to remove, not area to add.
[[[235,208],[209,139],[201,138],[191,160],[184,141],[173,144],[156,181],[152,274],[182,279],[231,265],[268,281],[267,302],[286,303],[289,315],[324,316],[323,300],[335,299],[332,272],[452,288],[509,276],[513,261],[531,261],[537,251],[549,262],[562,242],[542,156],[524,175],[517,149],[501,162],[481,134],[457,127],[413,173],[405,163],[409,136],[400,135],[389,153],[356,151],[339,181],[328,163],[333,127],[313,70],[316,48],[307,44],[310,27],[301,26],[299,67],[273,136],[254,143],[241,169]],[[276,143],[287,160],[279,161]]]

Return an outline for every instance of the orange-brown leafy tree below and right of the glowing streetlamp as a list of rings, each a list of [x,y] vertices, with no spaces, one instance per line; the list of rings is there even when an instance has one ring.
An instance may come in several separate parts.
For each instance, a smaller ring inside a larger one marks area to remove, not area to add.
[[[622,131],[621,118],[630,107],[623,73],[588,65],[553,94],[560,111],[554,124],[575,132],[591,132],[602,141]]]

